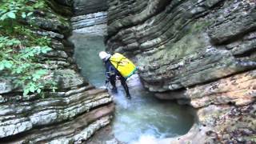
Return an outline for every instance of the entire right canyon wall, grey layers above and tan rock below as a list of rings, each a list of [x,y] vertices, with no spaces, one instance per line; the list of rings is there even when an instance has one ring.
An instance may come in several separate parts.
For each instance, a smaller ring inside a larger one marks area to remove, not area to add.
[[[107,50],[134,59],[158,98],[198,108],[198,125],[167,142],[255,142],[254,0],[107,2]]]

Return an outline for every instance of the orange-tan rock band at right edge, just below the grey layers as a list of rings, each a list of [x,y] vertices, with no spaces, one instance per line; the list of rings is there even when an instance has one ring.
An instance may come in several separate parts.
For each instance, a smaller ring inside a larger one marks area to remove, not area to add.
[[[203,86],[196,86],[187,90],[194,107],[210,104],[234,103],[237,106],[250,104],[256,99],[256,71],[236,74],[229,78],[222,78],[217,82],[210,82]]]

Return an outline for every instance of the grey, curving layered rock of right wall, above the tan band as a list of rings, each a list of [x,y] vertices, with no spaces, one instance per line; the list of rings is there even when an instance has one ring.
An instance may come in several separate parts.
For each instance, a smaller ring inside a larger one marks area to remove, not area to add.
[[[150,91],[178,90],[256,66],[255,2],[113,0],[109,5],[108,49],[136,55]]]

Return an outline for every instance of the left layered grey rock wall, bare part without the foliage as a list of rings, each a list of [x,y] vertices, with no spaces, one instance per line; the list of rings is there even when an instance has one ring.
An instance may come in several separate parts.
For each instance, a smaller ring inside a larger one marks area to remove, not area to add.
[[[48,4],[44,11],[37,11],[34,24],[39,29],[34,33],[51,38],[53,50],[40,58],[58,90],[23,97],[8,78],[0,78],[0,142],[83,142],[112,118],[112,97],[86,82],[72,58],[74,46],[66,40],[72,30],[70,18],[61,16],[72,14],[66,9],[70,2]],[[60,14],[54,7],[65,10]]]

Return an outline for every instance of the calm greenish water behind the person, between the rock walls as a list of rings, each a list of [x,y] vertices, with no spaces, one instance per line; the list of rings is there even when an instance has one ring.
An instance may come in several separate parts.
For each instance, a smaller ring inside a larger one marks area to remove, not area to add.
[[[103,63],[98,57],[98,53],[105,47],[103,37],[74,33],[70,41],[74,43],[74,58],[81,68],[82,76],[94,86],[105,84]]]

